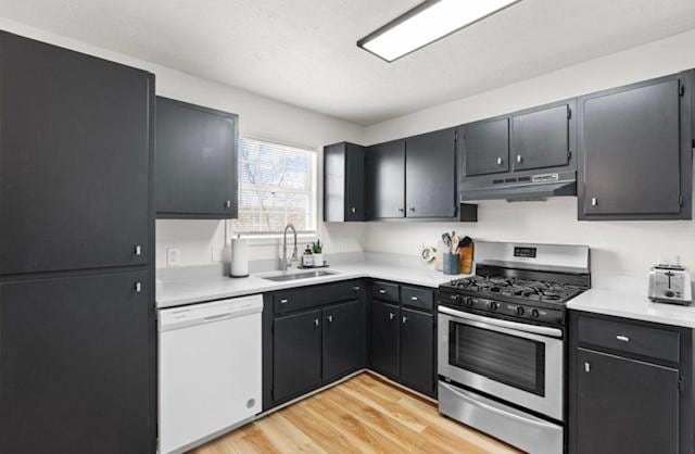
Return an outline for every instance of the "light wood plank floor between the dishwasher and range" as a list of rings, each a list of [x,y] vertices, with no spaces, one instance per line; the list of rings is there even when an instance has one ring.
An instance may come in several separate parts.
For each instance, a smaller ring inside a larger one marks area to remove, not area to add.
[[[365,373],[192,453],[516,454],[518,451],[440,416],[432,403]]]

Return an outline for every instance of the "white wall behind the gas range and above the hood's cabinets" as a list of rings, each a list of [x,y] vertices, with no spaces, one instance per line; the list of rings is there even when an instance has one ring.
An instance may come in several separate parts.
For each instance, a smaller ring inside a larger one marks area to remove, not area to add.
[[[405,137],[695,67],[695,30],[367,127],[365,143]],[[596,277],[643,276],[660,254],[695,270],[693,222],[577,220],[577,199],[483,202],[477,224],[369,224],[365,250],[415,254],[445,230],[500,241],[581,243]]]

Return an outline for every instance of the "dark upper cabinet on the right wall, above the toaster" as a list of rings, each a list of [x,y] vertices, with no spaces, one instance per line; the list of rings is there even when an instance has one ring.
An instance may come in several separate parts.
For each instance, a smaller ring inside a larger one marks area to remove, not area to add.
[[[692,217],[692,72],[579,98],[579,218]]]

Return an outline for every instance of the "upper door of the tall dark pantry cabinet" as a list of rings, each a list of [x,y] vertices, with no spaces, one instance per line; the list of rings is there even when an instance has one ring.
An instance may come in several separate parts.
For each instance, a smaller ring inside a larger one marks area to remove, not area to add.
[[[153,96],[148,73],[0,34],[0,274],[147,262]]]

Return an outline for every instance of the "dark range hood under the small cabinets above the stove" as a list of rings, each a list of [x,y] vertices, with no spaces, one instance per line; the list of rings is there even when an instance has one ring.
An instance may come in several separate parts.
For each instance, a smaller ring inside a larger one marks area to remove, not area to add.
[[[502,199],[510,202],[577,196],[577,173],[549,173],[527,176],[486,176],[470,178],[460,185],[460,201]]]

